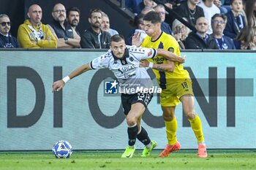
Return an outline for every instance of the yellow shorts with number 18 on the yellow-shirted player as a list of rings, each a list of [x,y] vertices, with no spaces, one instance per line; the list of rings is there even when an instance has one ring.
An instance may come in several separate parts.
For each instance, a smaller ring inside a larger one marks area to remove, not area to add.
[[[180,102],[179,98],[185,94],[192,94],[192,81],[190,79],[177,79],[166,86],[160,94],[160,104],[162,107],[174,107]]]

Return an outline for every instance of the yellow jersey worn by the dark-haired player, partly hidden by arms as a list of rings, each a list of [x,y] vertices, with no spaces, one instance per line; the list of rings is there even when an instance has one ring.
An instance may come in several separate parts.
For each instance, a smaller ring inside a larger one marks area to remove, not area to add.
[[[159,38],[155,41],[151,41],[151,36],[146,36],[141,47],[165,49],[175,53],[178,56],[181,56],[176,39],[163,31]],[[162,55],[157,55],[154,58],[148,59],[148,61],[152,63],[166,63],[167,59]],[[153,69],[153,72],[157,77],[157,82],[159,83],[160,88],[162,89],[166,89],[167,85],[171,85],[174,79],[190,79],[189,72],[183,68],[182,64],[178,64],[178,62],[176,62],[173,72],[162,72],[157,69]]]

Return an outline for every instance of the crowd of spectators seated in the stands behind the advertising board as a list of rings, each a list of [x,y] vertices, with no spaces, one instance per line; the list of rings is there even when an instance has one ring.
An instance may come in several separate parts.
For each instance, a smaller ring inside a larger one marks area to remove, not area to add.
[[[125,2],[135,14],[134,27],[127,39],[140,32],[146,37],[143,16],[156,11],[161,29],[175,37],[181,49],[256,50],[256,0],[116,0]],[[102,9],[91,9],[90,27],[79,33],[80,9],[56,4],[51,23],[42,23],[42,7],[32,4],[27,20],[18,28],[18,37],[10,34],[12,20],[0,14],[0,47],[23,48],[109,48],[110,37],[118,30],[110,28],[110,18]],[[111,22],[114,22],[111,20]],[[119,32],[119,34],[122,34]]]

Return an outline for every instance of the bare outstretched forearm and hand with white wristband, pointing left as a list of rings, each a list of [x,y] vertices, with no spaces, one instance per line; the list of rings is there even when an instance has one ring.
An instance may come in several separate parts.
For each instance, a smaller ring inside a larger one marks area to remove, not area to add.
[[[90,70],[89,63],[84,64],[83,66],[78,67],[78,69],[75,69],[73,72],[71,72],[67,77],[64,77],[62,80],[58,80],[56,82],[53,82],[53,93],[55,91],[61,90],[66,83],[71,80],[72,78],[75,78],[79,76],[80,74],[87,72]]]

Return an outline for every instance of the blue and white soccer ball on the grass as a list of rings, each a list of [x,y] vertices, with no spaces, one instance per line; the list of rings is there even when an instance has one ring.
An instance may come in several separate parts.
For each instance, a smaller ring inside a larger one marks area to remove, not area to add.
[[[69,158],[72,151],[72,146],[67,141],[58,141],[53,145],[53,155],[55,155],[55,158]]]

